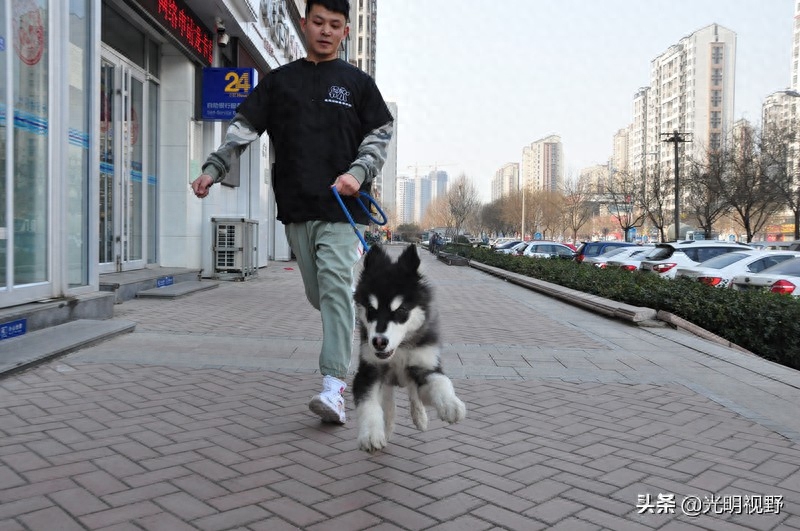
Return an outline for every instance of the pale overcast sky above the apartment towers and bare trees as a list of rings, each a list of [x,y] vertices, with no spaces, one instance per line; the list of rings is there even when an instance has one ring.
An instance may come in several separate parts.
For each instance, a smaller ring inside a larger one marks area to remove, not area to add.
[[[398,174],[437,164],[482,199],[549,134],[567,175],[611,156],[650,61],[718,23],[737,34],[734,115],[789,86],[793,0],[379,0],[376,81],[398,105]]]

